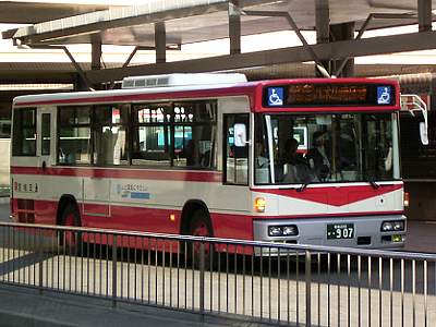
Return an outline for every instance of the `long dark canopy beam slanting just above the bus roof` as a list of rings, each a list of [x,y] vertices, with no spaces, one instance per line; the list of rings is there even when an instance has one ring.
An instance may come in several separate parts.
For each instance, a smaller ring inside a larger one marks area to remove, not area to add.
[[[312,45],[319,60],[338,60],[348,57],[363,57],[416,50],[429,50],[436,44],[436,32],[416,32],[400,35],[341,40],[329,44]],[[135,65],[86,72],[86,76],[95,83],[120,81],[132,75],[155,75],[183,72],[210,72],[211,68],[228,71],[242,68],[263,66],[291,62],[313,61],[312,51],[307,47],[291,47],[240,55],[226,55],[204,59],[173,61],[158,64]]]

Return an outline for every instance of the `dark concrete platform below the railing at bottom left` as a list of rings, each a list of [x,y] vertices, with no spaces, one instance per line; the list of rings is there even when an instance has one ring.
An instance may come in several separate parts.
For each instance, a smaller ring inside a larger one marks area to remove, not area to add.
[[[56,292],[0,287],[0,326],[226,326],[219,322],[202,322],[199,315],[165,308],[118,303],[107,300],[72,296]],[[214,319],[206,317],[206,319]],[[238,324],[249,326],[249,324]],[[254,326],[251,324],[250,326]]]

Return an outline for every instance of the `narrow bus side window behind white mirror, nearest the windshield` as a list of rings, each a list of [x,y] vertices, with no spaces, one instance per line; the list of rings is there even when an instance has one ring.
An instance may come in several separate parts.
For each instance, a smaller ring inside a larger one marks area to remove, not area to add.
[[[249,184],[249,144],[237,146],[234,125],[244,124],[249,131],[249,114],[225,116],[225,183],[235,185]]]

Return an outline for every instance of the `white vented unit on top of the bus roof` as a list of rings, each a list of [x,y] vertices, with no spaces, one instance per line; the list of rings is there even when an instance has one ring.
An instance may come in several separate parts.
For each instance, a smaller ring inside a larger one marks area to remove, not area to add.
[[[131,76],[122,82],[122,88],[166,87],[183,85],[210,85],[246,82],[244,74],[169,74],[150,76]]]

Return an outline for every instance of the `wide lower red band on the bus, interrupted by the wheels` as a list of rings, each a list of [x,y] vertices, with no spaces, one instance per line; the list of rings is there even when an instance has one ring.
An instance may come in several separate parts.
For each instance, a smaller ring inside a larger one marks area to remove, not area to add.
[[[17,217],[17,198],[11,201],[13,204],[14,220]],[[35,201],[35,223],[57,225],[58,202]],[[154,207],[131,207],[111,205],[107,217],[97,216],[109,208],[108,205],[84,203],[85,211],[81,209],[81,221],[83,227],[106,228],[116,230],[135,230],[161,233],[179,233],[181,228],[181,209],[160,209]],[[87,210],[92,209],[93,213]],[[339,214],[311,214],[295,216],[253,216],[234,215],[210,211],[214,237],[226,239],[253,240],[253,220],[280,220],[280,219],[317,219],[317,218],[349,218],[359,219],[372,216],[401,215],[403,211],[371,211],[371,213],[339,213]],[[174,220],[170,219],[174,215]],[[110,218],[110,219],[108,219]],[[332,220],[334,221],[334,220]],[[21,221],[24,222],[24,221]]]

